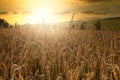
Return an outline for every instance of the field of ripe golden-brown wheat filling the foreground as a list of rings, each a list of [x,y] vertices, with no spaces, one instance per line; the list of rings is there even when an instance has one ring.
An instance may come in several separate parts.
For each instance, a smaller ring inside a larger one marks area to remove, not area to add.
[[[120,80],[120,32],[0,29],[0,80]]]

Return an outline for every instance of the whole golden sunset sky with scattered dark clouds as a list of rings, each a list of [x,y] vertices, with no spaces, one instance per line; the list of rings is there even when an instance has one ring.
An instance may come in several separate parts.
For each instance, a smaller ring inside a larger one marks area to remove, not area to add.
[[[15,22],[47,23],[75,19],[120,17],[120,0],[0,0],[0,18]]]

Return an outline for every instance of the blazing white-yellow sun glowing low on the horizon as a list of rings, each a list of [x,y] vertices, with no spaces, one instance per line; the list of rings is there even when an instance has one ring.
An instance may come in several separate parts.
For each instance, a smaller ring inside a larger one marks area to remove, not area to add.
[[[30,24],[41,23],[56,23],[58,18],[49,7],[42,7],[39,10],[34,10],[28,17]]]

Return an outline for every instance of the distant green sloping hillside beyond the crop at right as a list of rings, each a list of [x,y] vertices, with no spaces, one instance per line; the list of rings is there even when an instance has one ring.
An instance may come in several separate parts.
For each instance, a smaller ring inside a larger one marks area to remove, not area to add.
[[[110,30],[110,31],[114,31],[114,30],[118,30],[120,31],[120,18],[105,18],[105,19],[95,19],[95,20],[81,20],[81,21],[74,21],[73,24],[76,25],[77,29],[80,29],[81,24],[85,22],[85,29],[88,30],[95,30],[95,28],[97,26],[95,26],[94,24],[96,22],[100,22],[101,24],[101,29],[102,30]]]

